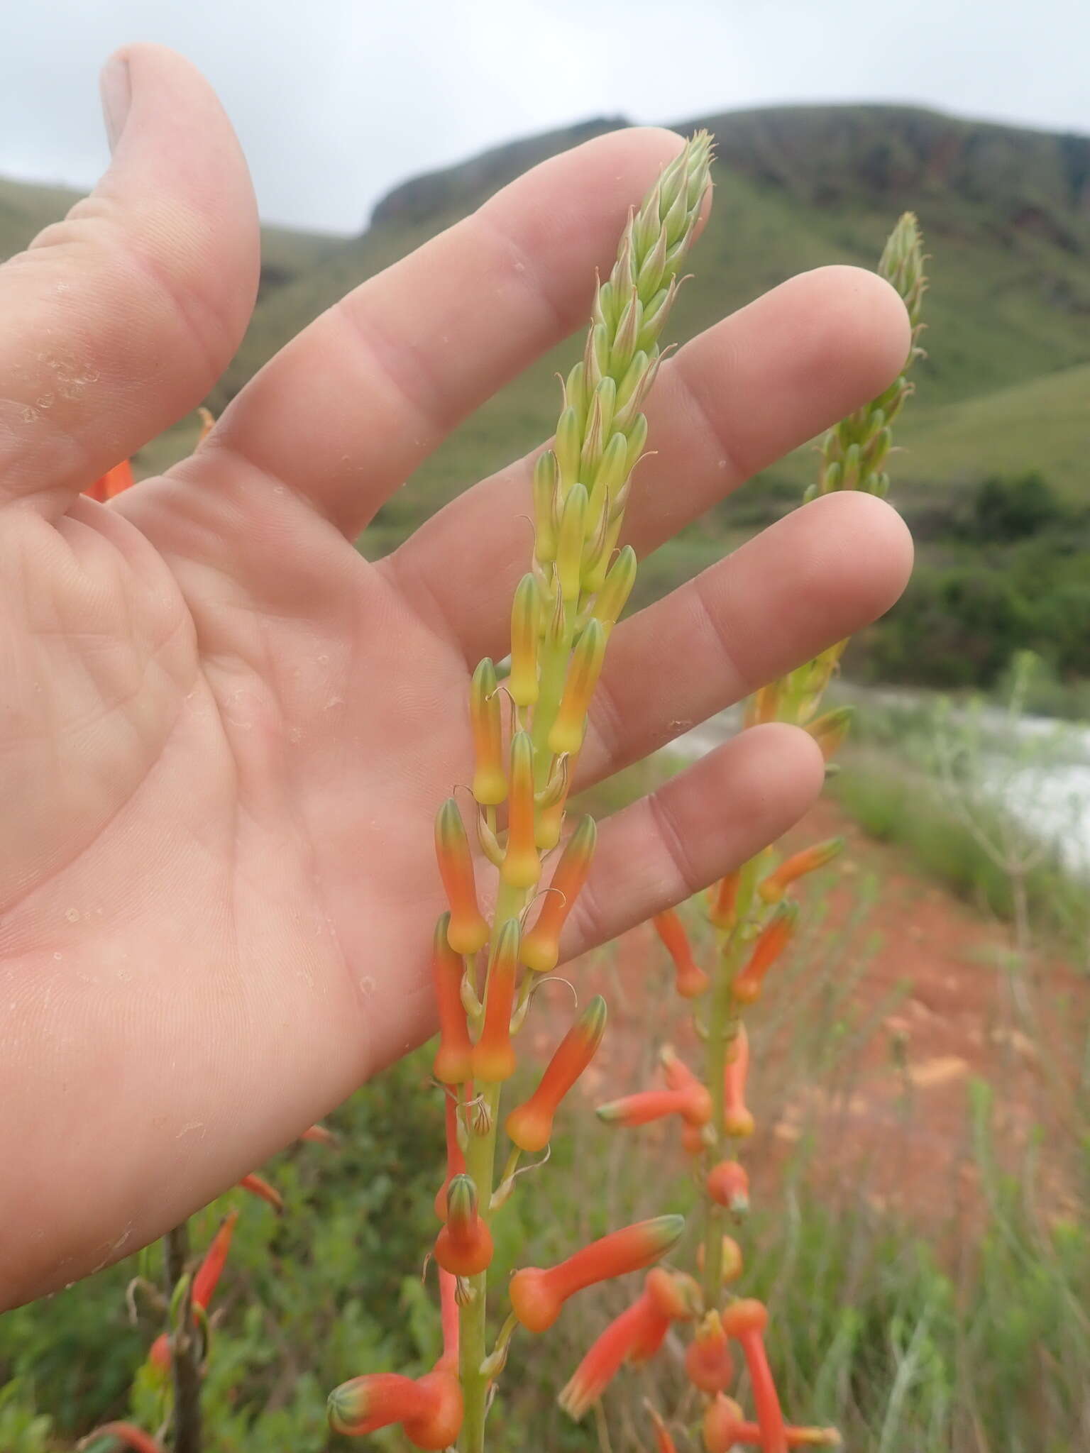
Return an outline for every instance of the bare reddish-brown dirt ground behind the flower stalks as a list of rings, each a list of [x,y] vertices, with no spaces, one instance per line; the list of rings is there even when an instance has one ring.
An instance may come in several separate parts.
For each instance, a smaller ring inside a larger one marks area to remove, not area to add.
[[[802,847],[849,838],[820,894],[801,897],[795,966],[785,965],[748,1020],[754,1045],[750,1107],[759,1129],[750,1165],[775,1174],[814,1135],[830,1190],[901,1209],[929,1223],[952,1209],[975,1219],[980,1171],[971,1152],[971,1084],[994,1091],[994,1144],[1017,1171],[1035,1128],[1038,1194],[1048,1213],[1071,1213],[1068,1154],[1080,1129],[1074,1085],[1090,1014],[1090,984],[1071,965],[1038,956],[1013,974],[1007,931],[982,920],[872,843],[836,804],[823,801],[789,835]],[[876,897],[871,901],[873,879]],[[818,901],[820,899],[820,901]],[[869,904],[869,907],[868,907]],[[824,905],[824,908],[823,908]],[[815,915],[824,911],[824,921]],[[695,936],[702,933],[692,915]],[[702,940],[706,953],[709,940]],[[698,952],[699,958],[699,952]],[[612,1098],[655,1082],[653,1040],[673,1040],[699,1062],[701,1046],[674,997],[669,960],[648,926],[571,972],[580,998],[610,1005],[606,1045],[587,1090]],[[570,1005],[560,991],[535,1014],[541,1052]],[[676,1133],[638,1132],[666,1151]]]

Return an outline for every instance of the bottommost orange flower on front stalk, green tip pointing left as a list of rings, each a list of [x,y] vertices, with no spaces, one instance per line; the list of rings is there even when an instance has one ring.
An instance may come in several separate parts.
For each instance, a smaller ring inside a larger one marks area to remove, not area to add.
[[[371,1373],[334,1388],[330,1425],[350,1438],[400,1422],[417,1449],[440,1453],[462,1431],[462,1388],[449,1367],[436,1367],[416,1382],[397,1373]]]

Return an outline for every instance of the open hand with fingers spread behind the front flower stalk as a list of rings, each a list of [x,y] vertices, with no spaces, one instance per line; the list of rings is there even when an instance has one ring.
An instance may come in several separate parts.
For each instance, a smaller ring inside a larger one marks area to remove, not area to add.
[[[92,479],[208,392],[249,321],[253,195],[180,57],[109,67],[96,193],[0,269],[0,1305],[134,1250],[430,1027],[439,801],[465,687],[526,568],[525,461],[392,556],[352,541],[445,433],[583,325],[674,154],[623,131],[545,163],[358,288],[198,452],[113,506]],[[121,100],[118,100],[118,96]],[[798,278],[685,347],[648,408],[644,554],[884,388],[900,301]],[[855,631],[908,543],[862,495],[798,511],[622,625],[581,780]],[[812,742],[746,732],[602,830],[568,952],[778,835]]]

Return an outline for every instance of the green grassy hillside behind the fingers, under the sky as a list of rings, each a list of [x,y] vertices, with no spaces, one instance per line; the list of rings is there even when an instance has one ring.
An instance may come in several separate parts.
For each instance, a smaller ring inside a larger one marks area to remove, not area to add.
[[[544,157],[623,125],[590,121],[414,177],[379,202],[359,237],[266,228],[262,294],[238,355],[209,398],[212,410],[352,288]],[[873,266],[898,214],[913,209],[932,253],[929,356],[917,368],[917,397],[898,432],[898,504],[910,519],[936,509],[956,514],[958,495],[987,475],[1028,469],[1041,471],[1070,506],[1087,498],[1090,138],[907,106],[773,108],[692,118],[677,129],[701,125],[718,145],[715,209],[671,337],[692,337],[799,270],[831,262]],[[0,183],[0,253],[25,246],[71,199],[55,189]],[[423,516],[546,436],[557,410],[554,375],[577,347],[570,340],[538,360],[455,430],[381,511],[362,542],[366,554],[384,554]],[[166,468],[192,448],[195,432],[193,418],[182,420],[141,450],[138,471]],[[812,466],[812,452],[798,450],[660,551],[641,572],[642,599],[789,509]],[[926,536],[942,533],[929,527]],[[924,559],[933,562],[933,555],[926,543]],[[1001,574],[1003,559],[991,555],[985,568]],[[1048,575],[1045,570],[1042,580]],[[1025,618],[1020,604],[1014,615]],[[1090,638],[1090,618],[1075,623],[1083,626]],[[1032,632],[1023,644],[1042,647]],[[956,634],[953,649],[956,655]]]

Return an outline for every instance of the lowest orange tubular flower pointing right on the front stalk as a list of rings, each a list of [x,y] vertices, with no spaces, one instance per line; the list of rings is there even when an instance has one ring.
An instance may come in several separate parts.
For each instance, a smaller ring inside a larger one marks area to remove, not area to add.
[[[576,1292],[651,1266],[677,1244],[683,1229],[683,1216],[657,1216],[592,1241],[560,1266],[525,1267],[512,1277],[512,1309],[529,1331],[545,1332]]]

